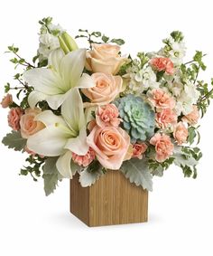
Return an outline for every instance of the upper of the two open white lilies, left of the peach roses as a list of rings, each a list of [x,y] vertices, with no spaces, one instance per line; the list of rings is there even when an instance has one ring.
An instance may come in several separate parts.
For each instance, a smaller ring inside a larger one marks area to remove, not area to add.
[[[28,101],[31,108],[42,100],[46,100],[51,109],[58,109],[69,97],[73,88],[90,88],[95,86],[92,78],[83,73],[86,50],[79,49],[65,53],[61,50],[52,51],[49,68],[36,68],[23,73],[24,81],[33,86]]]

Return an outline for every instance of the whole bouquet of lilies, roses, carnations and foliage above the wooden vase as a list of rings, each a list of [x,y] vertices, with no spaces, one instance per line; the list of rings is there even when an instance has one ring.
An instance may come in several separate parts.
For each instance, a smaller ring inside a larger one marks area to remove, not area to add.
[[[9,108],[12,128],[3,143],[28,154],[20,175],[34,181],[42,176],[47,195],[76,173],[88,186],[107,170],[119,170],[150,191],[153,176],[172,164],[196,178],[202,156],[198,122],[213,98],[213,90],[199,80],[205,54],[197,51],[184,62],[178,31],[159,51],[138,52],[136,58],[121,53],[124,40],[88,30],[75,37],[88,42],[88,49],[79,49],[50,17],[39,23],[32,63],[14,45],[8,47],[14,54],[10,62],[20,71],[14,86],[6,83],[1,102]]]

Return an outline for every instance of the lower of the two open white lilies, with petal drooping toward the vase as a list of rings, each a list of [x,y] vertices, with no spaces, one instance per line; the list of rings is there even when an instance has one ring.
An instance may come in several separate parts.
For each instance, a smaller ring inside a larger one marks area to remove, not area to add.
[[[61,106],[61,116],[45,110],[36,120],[45,128],[28,138],[27,147],[39,155],[60,156],[56,166],[61,175],[71,178],[71,152],[80,156],[88,152],[87,121],[79,90],[71,90]]]

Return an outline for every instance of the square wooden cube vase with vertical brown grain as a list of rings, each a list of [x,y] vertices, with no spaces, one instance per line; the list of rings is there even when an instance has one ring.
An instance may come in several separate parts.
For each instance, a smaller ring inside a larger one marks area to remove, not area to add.
[[[70,212],[88,226],[147,222],[148,192],[119,171],[107,171],[90,187],[70,180]]]

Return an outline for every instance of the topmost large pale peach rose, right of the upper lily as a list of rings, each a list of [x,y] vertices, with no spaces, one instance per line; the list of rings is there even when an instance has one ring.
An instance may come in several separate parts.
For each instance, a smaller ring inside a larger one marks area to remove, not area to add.
[[[87,52],[86,69],[115,75],[126,58],[119,55],[120,47],[109,43],[93,43]]]

